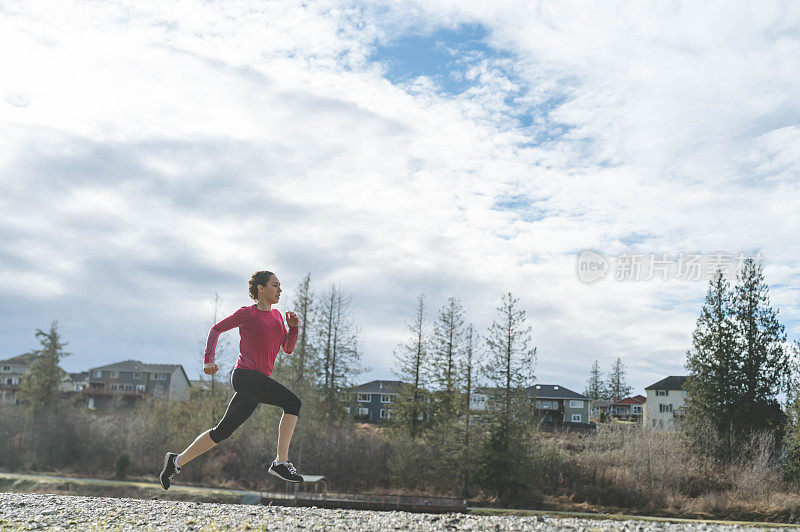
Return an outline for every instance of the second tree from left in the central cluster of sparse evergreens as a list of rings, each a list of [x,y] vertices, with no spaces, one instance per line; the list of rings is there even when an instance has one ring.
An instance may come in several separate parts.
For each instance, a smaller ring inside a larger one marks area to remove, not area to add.
[[[463,316],[461,304],[451,297],[440,310],[439,319],[433,326],[428,373],[430,382],[436,388],[434,417],[437,420],[451,419],[460,410],[458,358],[464,335]]]

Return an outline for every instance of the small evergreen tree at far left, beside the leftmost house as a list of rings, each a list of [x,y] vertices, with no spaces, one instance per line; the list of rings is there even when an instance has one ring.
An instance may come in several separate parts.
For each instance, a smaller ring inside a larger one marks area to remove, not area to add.
[[[20,395],[34,414],[39,414],[58,400],[58,385],[65,375],[58,363],[72,353],[64,351],[67,342],[61,341],[58,321],[53,321],[48,332],[36,329],[36,338],[41,348],[26,353],[31,355],[30,369],[20,383]]]

